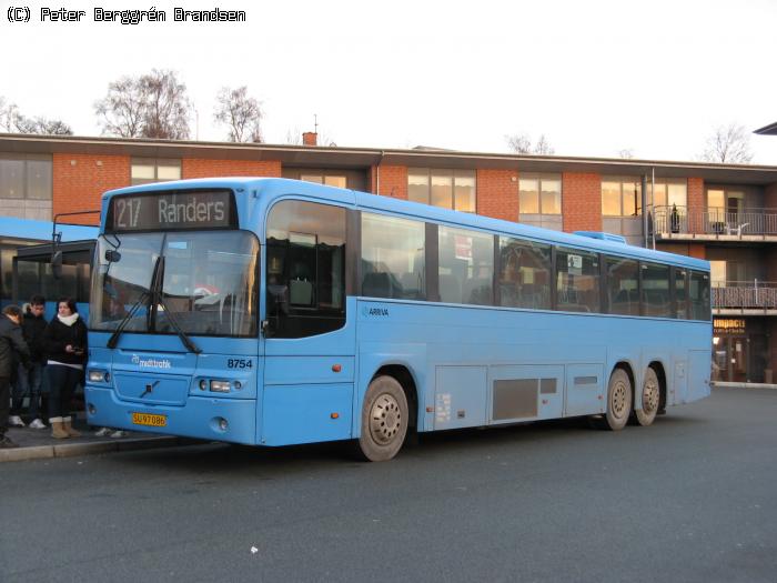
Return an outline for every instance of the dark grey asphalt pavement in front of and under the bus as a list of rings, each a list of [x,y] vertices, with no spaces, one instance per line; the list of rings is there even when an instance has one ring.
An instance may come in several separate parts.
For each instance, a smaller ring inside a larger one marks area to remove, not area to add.
[[[777,391],[652,428],[0,464],[0,581],[777,581]]]

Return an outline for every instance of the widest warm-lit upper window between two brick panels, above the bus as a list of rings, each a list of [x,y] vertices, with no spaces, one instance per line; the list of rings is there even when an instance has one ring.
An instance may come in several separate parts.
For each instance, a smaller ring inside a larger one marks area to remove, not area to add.
[[[408,168],[407,200],[455,211],[475,212],[475,171]]]

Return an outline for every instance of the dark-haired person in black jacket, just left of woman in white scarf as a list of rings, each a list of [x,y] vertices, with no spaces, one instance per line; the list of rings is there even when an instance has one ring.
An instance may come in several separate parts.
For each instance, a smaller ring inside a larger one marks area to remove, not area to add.
[[[30,399],[30,428],[46,429],[41,421],[40,400],[41,386],[43,384],[43,366],[46,366],[46,355],[41,342],[46,330],[46,299],[42,295],[33,295],[26,306],[24,316],[21,324],[24,342],[30,349],[30,368],[19,364],[17,382],[13,385],[11,399],[11,416],[8,420],[11,426],[24,426],[21,420],[21,405],[24,396]]]

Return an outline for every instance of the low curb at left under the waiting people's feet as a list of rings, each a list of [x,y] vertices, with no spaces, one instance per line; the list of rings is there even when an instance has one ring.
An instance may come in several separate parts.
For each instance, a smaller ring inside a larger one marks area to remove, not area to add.
[[[127,452],[191,445],[195,440],[174,436],[138,438],[118,441],[99,441],[95,443],[58,443],[56,445],[38,445],[0,450],[0,463],[23,462],[28,460],[46,460],[50,458],[73,458],[77,455],[94,455],[98,453]]]

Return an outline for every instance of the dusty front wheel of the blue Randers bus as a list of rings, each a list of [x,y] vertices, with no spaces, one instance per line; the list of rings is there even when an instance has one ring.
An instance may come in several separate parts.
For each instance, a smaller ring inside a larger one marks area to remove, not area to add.
[[[359,449],[370,462],[396,455],[407,434],[407,398],[392,376],[374,379],[364,395]]]

